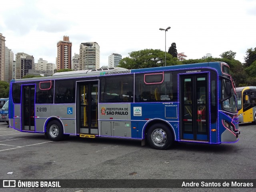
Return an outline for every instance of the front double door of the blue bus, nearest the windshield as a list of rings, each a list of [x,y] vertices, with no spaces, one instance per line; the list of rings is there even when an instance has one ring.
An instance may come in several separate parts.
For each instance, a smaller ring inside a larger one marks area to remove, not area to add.
[[[208,141],[207,74],[181,76],[181,139]]]

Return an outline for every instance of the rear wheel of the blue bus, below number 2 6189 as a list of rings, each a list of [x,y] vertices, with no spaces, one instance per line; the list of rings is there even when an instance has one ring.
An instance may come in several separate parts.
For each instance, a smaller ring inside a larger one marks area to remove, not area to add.
[[[52,120],[46,128],[46,134],[51,141],[60,141],[63,139],[63,128],[59,121]]]

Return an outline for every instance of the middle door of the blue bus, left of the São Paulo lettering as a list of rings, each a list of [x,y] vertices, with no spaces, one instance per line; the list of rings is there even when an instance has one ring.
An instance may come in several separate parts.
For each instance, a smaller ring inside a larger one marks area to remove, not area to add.
[[[98,134],[98,81],[82,82],[78,85],[78,124],[80,134]]]

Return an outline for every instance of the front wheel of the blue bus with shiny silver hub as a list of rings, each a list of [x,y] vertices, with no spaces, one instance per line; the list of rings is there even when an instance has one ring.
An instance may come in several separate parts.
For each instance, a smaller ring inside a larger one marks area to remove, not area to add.
[[[174,137],[169,127],[157,123],[148,129],[147,140],[152,148],[165,150],[173,144]]]

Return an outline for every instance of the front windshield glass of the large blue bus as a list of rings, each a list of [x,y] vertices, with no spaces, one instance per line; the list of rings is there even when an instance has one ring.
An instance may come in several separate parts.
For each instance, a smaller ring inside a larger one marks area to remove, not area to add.
[[[231,80],[222,79],[222,108],[228,112],[236,112],[236,95],[234,87],[231,86],[231,94],[228,93],[228,84],[232,85]]]

